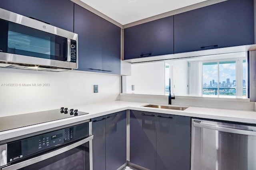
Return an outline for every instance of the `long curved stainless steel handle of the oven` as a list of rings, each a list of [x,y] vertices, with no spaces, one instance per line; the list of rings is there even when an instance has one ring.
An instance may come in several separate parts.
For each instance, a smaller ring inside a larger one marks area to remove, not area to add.
[[[63,147],[63,148],[60,148],[58,150],[54,150],[52,152],[49,152],[49,153],[46,153],[46,154],[43,154],[43,155],[40,155],[40,156],[37,156],[35,158],[31,158],[31,159],[28,159],[28,160],[25,160],[23,162],[19,162],[17,164],[13,164],[13,165],[10,165],[10,166],[6,166],[5,168],[2,168],[2,170],[14,170],[14,169],[20,169],[20,168],[24,168],[26,166],[29,166],[29,165],[32,165],[32,164],[35,164],[37,162],[40,162],[42,160],[46,160],[48,158],[52,158],[53,156],[56,156],[58,154],[61,154],[63,152],[66,152],[68,150],[71,150],[71,149],[74,149],[80,145],[83,145],[84,143],[86,142],[89,142],[90,140],[93,139],[93,135],[90,136],[90,137],[87,137],[81,141],[78,141],[76,143],[73,143],[71,145],[68,145],[66,147]]]

